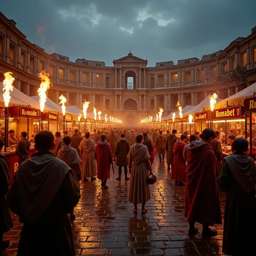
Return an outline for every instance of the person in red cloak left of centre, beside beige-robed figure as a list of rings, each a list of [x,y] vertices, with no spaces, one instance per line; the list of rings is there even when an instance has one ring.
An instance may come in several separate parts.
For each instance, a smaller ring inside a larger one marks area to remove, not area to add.
[[[106,135],[100,135],[100,142],[97,143],[95,149],[95,158],[97,161],[97,178],[102,181],[102,188],[108,188],[106,186],[107,179],[110,178],[110,165],[113,164],[113,153],[111,146],[106,142]]]

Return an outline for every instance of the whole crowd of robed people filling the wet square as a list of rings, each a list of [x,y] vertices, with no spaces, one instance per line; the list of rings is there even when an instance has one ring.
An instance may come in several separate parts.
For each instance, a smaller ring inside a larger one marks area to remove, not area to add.
[[[10,133],[11,132],[11,133]],[[14,137],[14,131],[9,136]],[[230,131],[231,132],[231,131]],[[111,165],[118,166],[117,181],[130,180],[129,198],[133,213],[147,213],[151,198],[148,182],[152,164],[158,155],[159,164],[166,163],[177,186],[185,186],[185,217],[189,235],[198,233],[195,223],[203,225],[202,235],[214,237],[218,232],[210,226],[221,224],[219,191],[227,193],[224,215],[223,252],[227,255],[254,255],[254,214],[256,167],[246,156],[248,141],[240,134],[231,140],[233,154],[223,159],[223,130],[205,129],[188,136],[177,130],[107,129],[86,132],[75,129],[72,136],[56,132],[38,132],[37,153],[30,157],[26,132],[16,143],[19,170],[10,186],[10,172],[0,154],[0,250],[9,246],[3,234],[12,228],[9,208],[23,223],[18,255],[75,255],[70,220],[76,218],[74,207],[79,201],[80,181],[93,182],[96,177],[102,189],[108,188]],[[11,138],[14,140],[15,138]],[[10,139],[9,139],[10,140]],[[4,146],[0,138],[0,147]],[[130,177],[128,175],[128,170]],[[46,241],[47,240],[47,241]],[[44,245],[44,246],[42,246]],[[253,253],[252,253],[253,252]]]

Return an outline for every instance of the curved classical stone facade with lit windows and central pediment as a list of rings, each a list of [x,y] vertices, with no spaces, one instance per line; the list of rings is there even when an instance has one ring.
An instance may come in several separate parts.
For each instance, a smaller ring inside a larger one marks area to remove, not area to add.
[[[246,38],[237,38],[225,50],[198,58],[156,63],[147,67],[147,60],[133,56],[114,59],[113,66],[104,62],[79,58],[75,63],[69,57],[53,53],[30,43],[16,28],[12,19],[0,12],[0,82],[3,73],[11,71],[15,86],[28,96],[37,95],[40,84],[38,73],[50,73],[52,87],[48,97],[58,103],[64,95],[68,105],[82,108],[83,100],[104,114],[122,119],[127,124],[146,116],[155,116],[159,107],[163,116],[182,106],[196,105],[207,95],[217,92],[226,98],[239,88],[219,87],[215,78],[220,72],[235,69],[237,65],[250,70],[249,83],[256,80],[256,28]]]

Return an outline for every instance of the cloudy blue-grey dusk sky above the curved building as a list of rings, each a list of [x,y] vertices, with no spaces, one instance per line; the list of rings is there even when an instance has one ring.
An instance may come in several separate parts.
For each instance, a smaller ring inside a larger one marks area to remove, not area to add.
[[[2,0],[31,43],[48,53],[104,61],[133,55],[156,62],[225,49],[256,26],[255,0]]]

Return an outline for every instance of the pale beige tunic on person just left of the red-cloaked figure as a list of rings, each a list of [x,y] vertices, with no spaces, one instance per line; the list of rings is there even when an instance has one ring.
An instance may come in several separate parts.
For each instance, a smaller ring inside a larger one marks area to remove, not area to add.
[[[82,172],[84,178],[96,176],[96,163],[93,150],[95,150],[95,142],[93,139],[84,139],[80,145],[79,150],[82,153]]]

